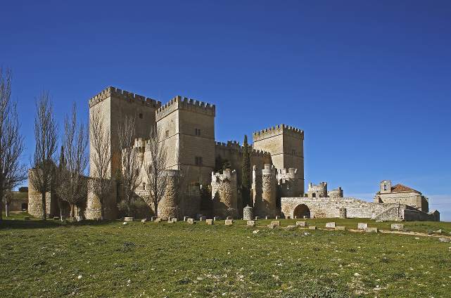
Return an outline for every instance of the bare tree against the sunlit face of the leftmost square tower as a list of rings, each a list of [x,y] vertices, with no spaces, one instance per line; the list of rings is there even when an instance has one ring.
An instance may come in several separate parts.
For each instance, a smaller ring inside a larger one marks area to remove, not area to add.
[[[89,119],[89,139],[91,142],[91,191],[99,197],[101,219],[105,218],[104,203],[110,195],[113,181],[110,173],[110,129],[103,122],[100,110],[93,110]]]

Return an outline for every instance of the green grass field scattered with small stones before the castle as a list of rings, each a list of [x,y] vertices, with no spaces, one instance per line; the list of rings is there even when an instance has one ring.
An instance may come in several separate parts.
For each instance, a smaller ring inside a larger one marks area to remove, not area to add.
[[[11,217],[14,220],[11,220]],[[349,231],[120,221],[0,224],[0,297],[449,297],[451,243]],[[363,219],[308,219],[355,228]],[[296,220],[282,220],[282,226]],[[405,223],[411,231],[450,223]],[[253,231],[259,230],[258,233]],[[80,278],[79,278],[80,277]]]

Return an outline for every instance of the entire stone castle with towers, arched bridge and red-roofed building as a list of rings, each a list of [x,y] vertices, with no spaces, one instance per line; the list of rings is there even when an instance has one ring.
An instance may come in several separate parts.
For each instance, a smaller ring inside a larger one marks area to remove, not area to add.
[[[139,153],[141,164],[141,184],[136,195],[144,201],[147,190],[143,168],[150,158],[148,137],[152,129],[160,131],[160,142],[167,148],[165,175],[169,184],[158,205],[158,214],[151,215],[162,219],[243,216],[239,193],[243,146],[237,141],[215,141],[215,105],[181,96],[163,105],[152,98],[108,87],[89,100],[89,114],[94,112],[100,113],[108,127],[110,174],[120,171],[119,127],[126,117],[135,119],[133,147]],[[343,197],[340,187],[328,192],[326,182],[318,185],[309,183],[305,191],[303,141],[304,131],[286,124],[253,133],[250,170],[251,205],[255,216],[440,219],[438,212],[428,212],[427,199],[421,193],[409,188],[409,192],[400,194],[397,188],[392,189],[391,186],[387,191],[388,185],[383,183],[389,181],[381,183],[384,190],[376,195],[375,202]],[[224,164],[227,164],[226,168]],[[93,167],[90,169],[92,171]],[[184,182],[182,186],[177,186],[180,173],[183,173]],[[92,172],[90,176],[93,176]],[[178,187],[181,189],[176,190]],[[117,186],[104,202],[106,219],[117,219],[120,199],[120,186]],[[39,202],[40,197],[31,195],[30,200]],[[30,202],[30,205],[36,204]],[[152,202],[146,202],[146,205],[146,209],[153,209]],[[87,219],[99,219],[101,216],[99,199],[93,193],[88,193],[83,209]]]

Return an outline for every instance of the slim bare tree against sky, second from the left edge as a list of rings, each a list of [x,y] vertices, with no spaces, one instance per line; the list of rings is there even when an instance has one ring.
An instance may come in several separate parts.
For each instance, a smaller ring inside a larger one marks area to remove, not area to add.
[[[34,117],[34,157],[30,175],[33,188],[41,193],[42,219],[46,220],[46,193],[51,191],[51,183],[56,171],[55,155],[58,148],[58,127],[53,116],[53,105],[48,91],[42,91],[36,102]]]

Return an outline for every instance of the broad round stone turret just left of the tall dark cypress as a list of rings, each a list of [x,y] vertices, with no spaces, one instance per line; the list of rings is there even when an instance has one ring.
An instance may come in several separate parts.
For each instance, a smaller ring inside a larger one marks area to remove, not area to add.
[[[224,169],[223,174],[211,174],[211,193],[213,216],[225,218],[238,216],[238,191],[236,188],[236,171]]]

